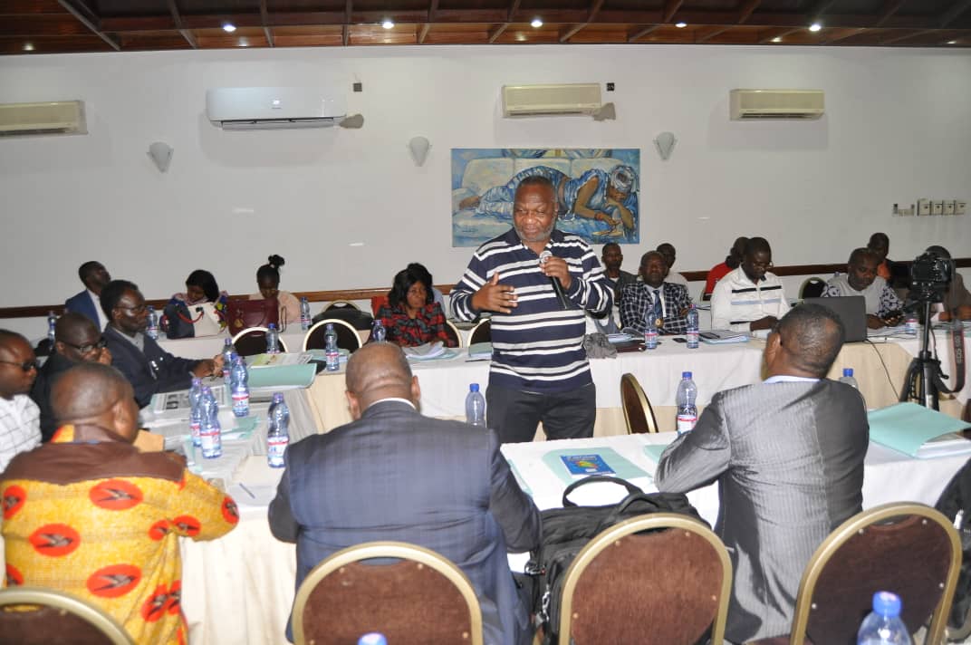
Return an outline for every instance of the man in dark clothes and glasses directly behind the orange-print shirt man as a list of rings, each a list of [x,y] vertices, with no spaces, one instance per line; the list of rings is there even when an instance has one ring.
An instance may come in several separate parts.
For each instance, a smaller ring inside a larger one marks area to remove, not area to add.
[[[50,441],[57,430],[57,420],[50,409],[50,388],[61,372],[66,372],[80,362],[112,364],[101,330],[80,312],[67,312],[57,319],[54,327],[53,352],[37,371],[37,378],[30,389],[30,398],[41,409],[41,440]]]

